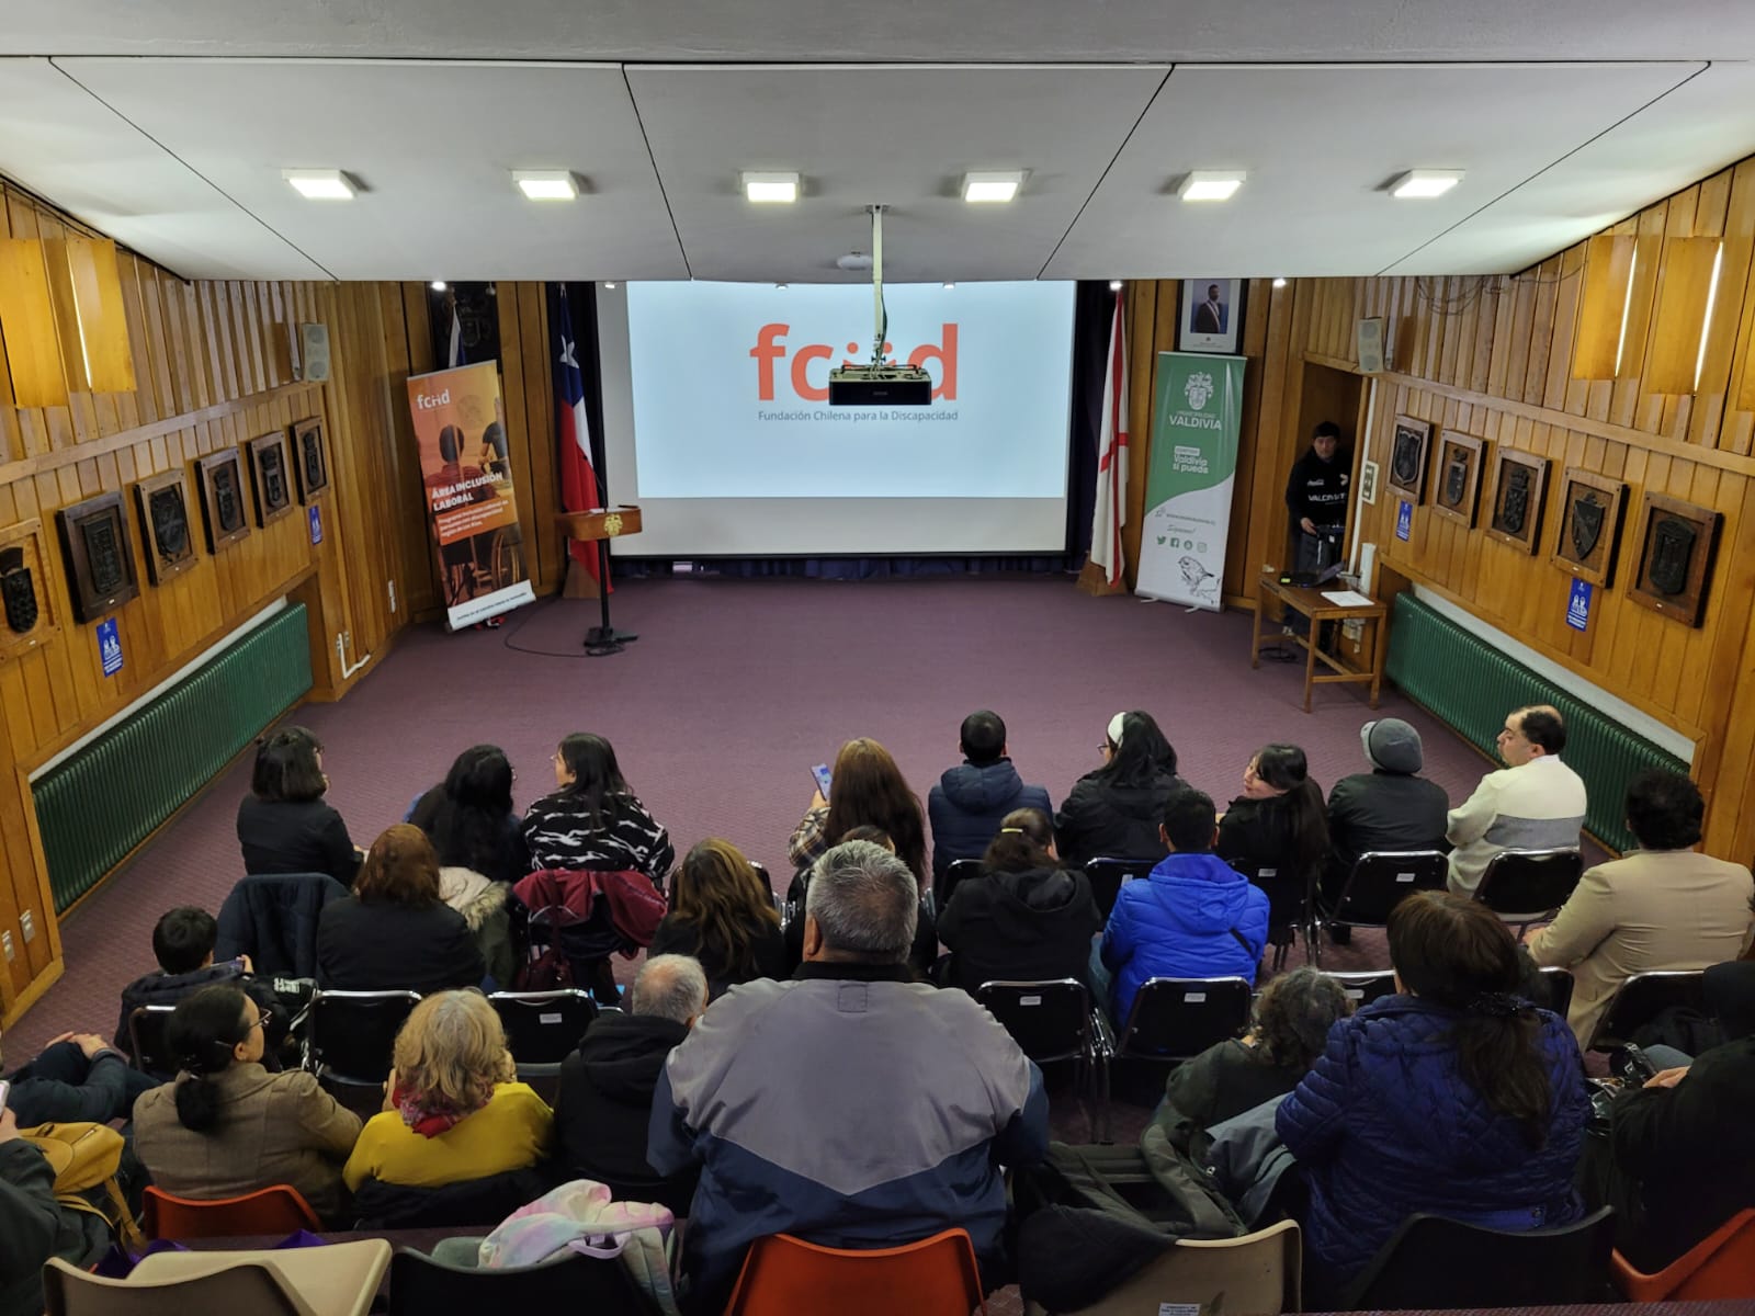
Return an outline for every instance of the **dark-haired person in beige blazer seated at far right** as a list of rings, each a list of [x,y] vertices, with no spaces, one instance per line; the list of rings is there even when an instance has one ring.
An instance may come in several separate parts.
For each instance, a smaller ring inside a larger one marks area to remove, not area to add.
[[[1694,849],[1704,812],[1683,774],[1641,772],[1627,788],[1627,828],[1639,849],[1587,872],[1555,921],[1530,937],[1536,963],[1572,970],[1567,1023],[1580,1046],[1634,974],[1706,969],[1743,953],[1755,879],[1741,863]]]

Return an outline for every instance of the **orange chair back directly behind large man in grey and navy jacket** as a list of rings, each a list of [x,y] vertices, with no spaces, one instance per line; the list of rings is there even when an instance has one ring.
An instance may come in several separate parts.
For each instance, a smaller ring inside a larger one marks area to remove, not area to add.
[[[976,1249],[965,1230],[944,1230],[902,1248],[844,1251],[790,1234],[756,1239],[744,1258],[727,1316],[893,1316],[986,1311]]]

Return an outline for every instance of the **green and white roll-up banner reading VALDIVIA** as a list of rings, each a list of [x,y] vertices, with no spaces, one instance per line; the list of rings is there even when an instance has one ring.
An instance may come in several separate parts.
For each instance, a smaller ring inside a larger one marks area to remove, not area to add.
[[[1241,356],[1158,353],[1139,593],[1220,609],[1243,423]]]

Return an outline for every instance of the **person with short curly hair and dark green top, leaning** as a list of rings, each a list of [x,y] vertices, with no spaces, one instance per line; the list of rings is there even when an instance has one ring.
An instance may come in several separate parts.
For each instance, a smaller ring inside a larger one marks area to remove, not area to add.
[[[1353,1012],[1341,983],[1311,967],[1279,974],[1255,998],[1250,1032],[1171,1070],[1153,1116],[1181,1151],[1213,1125],[1285,1097]],[[1197,1153],[1199,1155],[1199,1153]]]

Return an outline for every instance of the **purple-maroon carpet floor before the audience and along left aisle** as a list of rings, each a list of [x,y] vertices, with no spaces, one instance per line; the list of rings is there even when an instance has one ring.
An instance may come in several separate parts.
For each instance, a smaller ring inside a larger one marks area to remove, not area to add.
[[[405,633],[342,704],[293,714],[326,746],[330,800],[360,844],[402,818],[453,755],[505,747],[516,800],[553,788],[562,735],[607,735],[623,772],[677,851],[723,835],[790,876],[786,837],[809,800],[813,763],[851,735],[885,742],[925,797],[958,762],[965,712],[993,707],[1025,781],[1060,800],[1097,760],[1104,725],[1143,707],[1164,725],[1183,776],[1223,807],[1250,753],[1302,744],[1327,788],[1364,769],[1358,725],[1402,716],[1425,735],[1427,770],[1460,800],[1485,762],[1432,718],[1385,691],[1372,714],[1355,688],[1300,709],[1295,663],[1248,663],[1250,616],[1093,600],[1067,579],[899,583],[635,581],[616,625],[641,633],[612,658],[579,656],[595,604],[544,600],[502,630]],[[151,926],[174,904],[218,909],[240,876],[233,814],[240,762],[63,925],[67,977],[7,1035],[11,1058],[68,1028],[109,1035],[116,993],[153,967]],[[1293,955],[1300,963],[1302,955]],[[1327,956],[1325,956],[1327,963]],[[1360,939],[1336,967],[1383,963]]]

